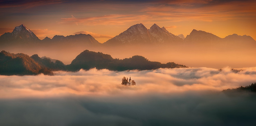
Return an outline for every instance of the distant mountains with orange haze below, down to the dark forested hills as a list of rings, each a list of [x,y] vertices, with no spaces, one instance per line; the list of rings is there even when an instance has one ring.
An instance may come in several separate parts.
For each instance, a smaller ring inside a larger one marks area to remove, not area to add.
[[[52,39],[45,37],[40,40],[24,25],[0,36],[0,50],[49,56],[65,64],[70,64],[77,54],[88,49],[120,59],[141,55],[161,63],[174,61],[193,67],[240,68],[254,66],[255,47],[256,41],[247,35],[220,38],[212,33],[192,30],[185,38],[156,24],[149,29],[143,24],[133,25],[103,44],[89,34],[55,35]]]

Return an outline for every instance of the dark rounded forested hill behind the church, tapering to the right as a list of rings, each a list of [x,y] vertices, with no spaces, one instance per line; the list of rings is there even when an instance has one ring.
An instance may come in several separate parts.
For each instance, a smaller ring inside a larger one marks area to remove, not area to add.
[[[76,71],[90,68],[97,69],[108,69],[108,70],[152,70],[157,68],[178,68],[186,67],[184,65],[179,65],[174,62],[169,62],[162,64],[160,62],[149,61],[143,56],[132,56],[132,58],[125,59],[113,59],[108,54],[96,53],[92,51],[85,50],[80,53],[70,65],[67,65],[66,68],[69,71]]]

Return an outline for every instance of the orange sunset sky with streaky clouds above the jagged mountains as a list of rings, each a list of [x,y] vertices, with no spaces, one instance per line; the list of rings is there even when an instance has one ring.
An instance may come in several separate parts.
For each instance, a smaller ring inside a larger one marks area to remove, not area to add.
[[[25,25],[39,39],[90,34],[103,43],[142,23],[185,37],[202,30],[256,39],[254,0],[0,0],[0,35]]]

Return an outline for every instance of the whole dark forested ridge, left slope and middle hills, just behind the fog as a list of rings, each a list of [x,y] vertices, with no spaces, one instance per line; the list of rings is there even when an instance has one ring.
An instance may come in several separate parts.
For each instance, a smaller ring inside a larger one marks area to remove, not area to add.
[[[50,58],[40,58],[37,54],[29,57],[23,53],[13,54],[6,51],[0,53],[0,75],[36,75],[39,73],[53,75],[52,71],[78,71],[80,69],[89,70],[90,68],[123,71],[179,67],[187,66],[173,62],[166,64],[152,62],[138,55],[132,58],[113,59],[108,54],[88,50],[79,54],[70,65],[64,65],[59,60],[54,63]]]

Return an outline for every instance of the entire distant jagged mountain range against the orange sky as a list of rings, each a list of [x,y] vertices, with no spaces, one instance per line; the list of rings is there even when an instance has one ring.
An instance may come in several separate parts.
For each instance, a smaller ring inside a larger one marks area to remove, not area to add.
[[[221,46],[230,44],[236,45],[249,45],[256,46],[256,41],[252,37],[247,35],[228,35],[225,38],[220,38],[212,33],[204,31],[192,30],[192,32],[185,38],[184,35],[173,35],[168,32],[166,28],[160,28],[154,24],[147,29],[142,23],[136,24],[128,28],[126,31],[120,33],[114,38],[107,40],[103,44],[99,43],[94,37],[86,34],[76,35],[55,35],[52,39],[45,37],[40,40],[36,35],[26,28],[24,25],[20,25],[14,28],[12,33],[4,33],[0,36],[0,45],[15,45],[15,44],[45,44],[51,46],[54,44],[69,45],[69,46],[118,46],[123,44],[133,45],[150,45],[150,44],[189,44],[189,45],[201,45],[201,44],[219,44]]]

